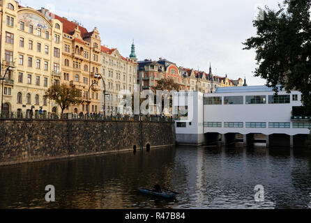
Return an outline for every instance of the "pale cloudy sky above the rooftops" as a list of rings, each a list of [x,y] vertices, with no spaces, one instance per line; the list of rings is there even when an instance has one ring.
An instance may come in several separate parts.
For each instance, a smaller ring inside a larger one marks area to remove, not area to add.
[[[229,79],[246,77],[248,85],[266,81],[254,77],[255,52],[243,42],[255,36],[252,26],[260,6],[278,9],[282,0],[22,0],[22,6],[49,8],[88,31],[97,27],[102,45],[130,55],[135,41],[139,61],[160,57],[184,68]]]

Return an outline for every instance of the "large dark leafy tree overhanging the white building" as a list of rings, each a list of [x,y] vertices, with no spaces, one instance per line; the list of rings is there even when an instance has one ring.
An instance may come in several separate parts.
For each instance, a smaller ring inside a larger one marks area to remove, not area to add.
[[[255,49],[258,68],[255,77],[278,93],[278,85],[287,93],[302,93],[303,105],[311,111],[311,0],[285,0],[279,10],[266,6],[253,21],[257,35],[243,43]]]

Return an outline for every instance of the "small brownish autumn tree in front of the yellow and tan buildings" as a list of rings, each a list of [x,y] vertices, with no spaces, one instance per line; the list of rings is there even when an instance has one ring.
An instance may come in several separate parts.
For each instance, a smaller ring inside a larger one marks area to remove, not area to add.
[[[83,102],[79,90],[66,84],[54,84],[50,86],[45,92],[45,97],[54,100],[61,107],[61,114],[63,114],[63,110],[69,105],[79,105]]]

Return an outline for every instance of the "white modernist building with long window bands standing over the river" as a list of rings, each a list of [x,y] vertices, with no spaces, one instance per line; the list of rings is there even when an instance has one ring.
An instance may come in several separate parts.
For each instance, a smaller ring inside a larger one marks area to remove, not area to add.
[[[183,92],[174,95],[176,141],[179,144],[229,144],[235,134],[251,143],[254,134],[265,134],[267,145],[301,144],[311,128],[311,117],[293,116],[301,107],[301,93],[279,91],[267,86],[236,86],[216,89],[215,93]],[[183,109],[188,110],[183,112]]]

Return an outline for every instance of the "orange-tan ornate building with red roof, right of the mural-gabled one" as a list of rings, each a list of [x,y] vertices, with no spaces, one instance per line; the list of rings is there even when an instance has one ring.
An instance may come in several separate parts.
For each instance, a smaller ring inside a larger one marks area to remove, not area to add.
[[[75,87],[84,98],[82,105],[72,105],[64,112],[98,113],[100,112],[100,79],[96,74],[100,72],[102,66],[98,29],[95,27],[89,32],[77,22],[58,15],[54,17],[63,24],[61,83]]]

